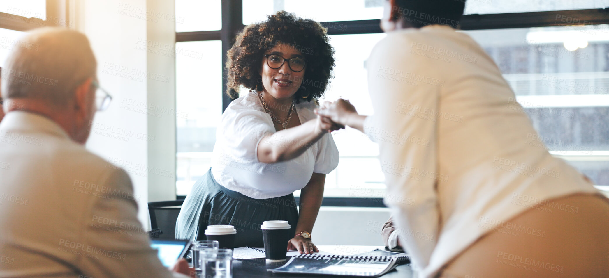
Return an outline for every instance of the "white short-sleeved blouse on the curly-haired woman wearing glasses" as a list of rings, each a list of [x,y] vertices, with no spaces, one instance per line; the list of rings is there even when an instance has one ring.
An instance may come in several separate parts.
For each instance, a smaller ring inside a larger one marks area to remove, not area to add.
[[[317,117],[313,112],[317,108],[314,102],[294,106],[301,124]],[[251,198],[275,198],[303,189],[312,173],[328,174],[339,163],[339,151],[330,133],[297,158],[275,164],[258,161],[258,142],[274,133],[273,120],[256,93],[248,92],[233,100],[216,130],[211,166],[214,179],[227,189]],[[277,144],[302,144],[283,137],[274,139]]]

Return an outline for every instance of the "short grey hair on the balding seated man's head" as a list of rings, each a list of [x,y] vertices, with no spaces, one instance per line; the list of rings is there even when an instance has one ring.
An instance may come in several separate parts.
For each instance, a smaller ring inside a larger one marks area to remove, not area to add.
[[[34,29],[16,41],[2,68],[4,99],[38,99],[65,106],[97,62],[83,33],[60,27]]]

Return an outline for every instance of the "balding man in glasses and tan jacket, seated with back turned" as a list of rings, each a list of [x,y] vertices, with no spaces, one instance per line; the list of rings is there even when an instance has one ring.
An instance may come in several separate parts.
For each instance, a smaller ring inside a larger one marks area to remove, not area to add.
[[[150,248],[127,173],[83,147],[109,100],[96,98],[86,36],[46,28],[23,41],[39,47],[15,47],[2,72],[0,277],[183,276]]]

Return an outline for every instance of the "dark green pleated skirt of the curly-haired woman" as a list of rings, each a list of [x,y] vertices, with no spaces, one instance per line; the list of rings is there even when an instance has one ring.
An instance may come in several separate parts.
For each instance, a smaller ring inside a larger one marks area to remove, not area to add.
[[[211,169],[192,186],[175,224],[175,238],[205,240],[208,225],[233,225],[234,247],[261,247],[260,225],[267,220],[287,220],[295,234],[298,223],[294,194],[254,199],[228,190],[216,182]]]

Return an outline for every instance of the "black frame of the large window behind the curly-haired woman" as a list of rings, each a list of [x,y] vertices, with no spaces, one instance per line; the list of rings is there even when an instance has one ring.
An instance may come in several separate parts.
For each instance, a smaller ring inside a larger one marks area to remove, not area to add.
[[[48,0],[50,1],[50,0]],[[198,32],[176,32],[175,41],[222,41],[222,112],[231,101],[225,94],[227,90],[227,70],[224,64],[227,61],[227,51],[234,43],[234,37],[245,25],[243,21],[242,0],[222,0],[222,29]],[[546,12],[519,12],[519,13],[491,13],[463,15],[460,20],[460,30],[488,30],[513,29],[530,27],[555,27],[578,25],[566,21],[557,21],[558,16],[567,16],[579,19],[585,25],[609,24],[609,7],[604,9],[559,10]],[[380,19],[353,20],[353,21],[325,21],[322,26],[335,26],[343,24],[347,29],[328,29],[328,35],[353,35],[365,33],[382,33]],[[2,27],[0,25],[0,27]],[[178,195],[178,200],[185,196]],[[350,207],[385,207],[382,198],[353,198],[353,197],[326,197],[322,206],[350,206]]]

